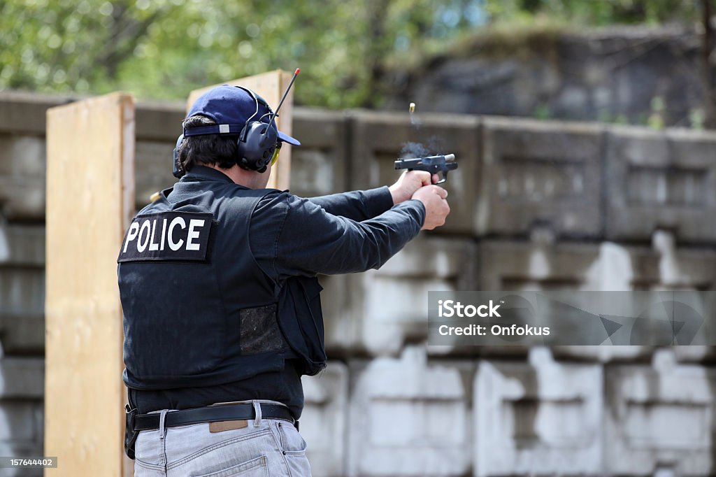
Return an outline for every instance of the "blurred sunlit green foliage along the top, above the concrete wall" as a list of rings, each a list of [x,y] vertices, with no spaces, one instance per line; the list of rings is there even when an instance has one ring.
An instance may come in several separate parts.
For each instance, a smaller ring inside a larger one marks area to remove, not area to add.
[[[377,107],[396,71],[487,24],[692,21],[697,3],[0,0],[0,89],[183,100],[197,87],[301,67],[299,104]]]

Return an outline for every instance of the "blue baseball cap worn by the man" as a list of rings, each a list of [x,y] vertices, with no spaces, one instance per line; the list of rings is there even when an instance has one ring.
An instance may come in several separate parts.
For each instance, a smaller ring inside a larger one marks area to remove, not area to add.
[[[185,128],[184,135],[239,134],[248,120],[268,123],[272,113],[269,104],[255,92],[243,87],[221,85],[198,97],[186,115],[187,118],[195,115],[210,117],[216,125]],[[276,127],[275,121],[271,124]],[[299,140],[281,131],[279,139],[301,145]]]

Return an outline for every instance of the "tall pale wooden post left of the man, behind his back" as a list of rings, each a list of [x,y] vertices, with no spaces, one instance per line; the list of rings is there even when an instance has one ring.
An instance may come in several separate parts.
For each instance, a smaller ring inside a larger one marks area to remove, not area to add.
[[[46,476],[127,470],[116,259],[134,213],[134,154],[130,95],[47,111],[44,453],[58,464]]]

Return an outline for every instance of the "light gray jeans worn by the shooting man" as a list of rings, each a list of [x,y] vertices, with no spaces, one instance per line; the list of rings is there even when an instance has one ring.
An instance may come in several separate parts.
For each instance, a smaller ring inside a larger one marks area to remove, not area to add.
[[[287,420],[256,419],[243,428],[210,432],[208,423],[142,430],[135,477],[310,477],[306,441]],[[170,410],[160,411],[163,416]]]

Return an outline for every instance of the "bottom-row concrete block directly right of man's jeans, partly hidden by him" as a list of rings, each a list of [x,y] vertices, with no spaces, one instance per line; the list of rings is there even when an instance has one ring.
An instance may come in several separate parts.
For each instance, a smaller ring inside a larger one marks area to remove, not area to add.
[[[348,420],[348,367],[329,362],[316,376],[301,377],[306,405],[301,415],[301,434],[308,448],[311,475],[346,474],[346,431]]]

